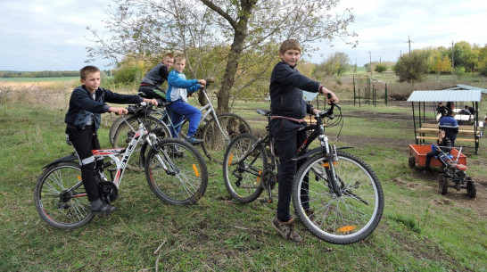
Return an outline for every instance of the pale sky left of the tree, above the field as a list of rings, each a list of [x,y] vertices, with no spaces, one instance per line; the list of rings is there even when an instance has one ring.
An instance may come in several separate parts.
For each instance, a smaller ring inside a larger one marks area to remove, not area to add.
[[[0,70],[78,70],[86,65],[87,26],[103,29],[110,0],[0,0]],[[100,59],[92,63],[101,69]]]

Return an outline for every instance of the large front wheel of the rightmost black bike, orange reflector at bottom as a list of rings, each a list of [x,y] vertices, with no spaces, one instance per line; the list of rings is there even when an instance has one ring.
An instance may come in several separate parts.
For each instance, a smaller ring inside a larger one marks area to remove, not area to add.
[[[370,235],[379,224],[384,211],[384,193],[376,173],[358,157],[337,152],[335,176],[342,192],[337,196],[327,183],[324,157],[305,161],[293,183],[295,212],[312,235],[329,243],[357,243]],[[309,188],[304,190],[304,177]],[[303,190],[301,190],[303,188]],[[303,204],[306,195],[314,214],[307,216]],[[302,197],[302,198],[301,198]]]

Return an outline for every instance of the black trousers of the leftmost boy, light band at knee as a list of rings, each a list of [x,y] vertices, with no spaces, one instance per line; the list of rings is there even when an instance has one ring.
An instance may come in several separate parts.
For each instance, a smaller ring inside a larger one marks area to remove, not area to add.
[[[95,179],[95,167],[103,164],[103,160],[95,161],[92,152],[93,149],[101,148],[95,126],[87,126],[85,129],[66,128],[66,134],[70,137],[70,141],[78,153],[83,185],[87,190],[88,200],[93,202],[100,198]]]

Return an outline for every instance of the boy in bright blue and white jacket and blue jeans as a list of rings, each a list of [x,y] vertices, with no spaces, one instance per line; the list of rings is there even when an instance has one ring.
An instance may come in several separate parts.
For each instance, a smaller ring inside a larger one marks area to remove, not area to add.
[[[186,75],[183,73],[185,67],[186,57],[184,55],[177,55],[174,58],[174,70],[169,72],[169,87],[166,100],[170,102],[168,109],[174,125],[179,124],[185,116],[189,119],[186,141],[191,144],[201,144],[202,139],[195,138],[194,134],[196,134],[196,128],[200,124],[202,112],[187,103],[187,96],[198,91],[200,87],[205,86],[206,81],[204,79],[186,79]],[[177,137],[180,130],[181,126],[171,128],[172,136]]]

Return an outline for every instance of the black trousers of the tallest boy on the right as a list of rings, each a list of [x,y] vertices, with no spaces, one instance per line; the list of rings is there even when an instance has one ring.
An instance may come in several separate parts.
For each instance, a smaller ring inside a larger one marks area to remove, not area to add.
[[[293,161],[296,158],[298,147],[306,140],[306,132],[299,131],[306,123],[298,123],[292,120],[271,120],[270,132],[275,139],[275,148],[279,156],[277,165],[277,182],[279,198],[277,201],[277,219],[286,222],[291,216],[291,194],[293,193],[293,180],[296,170],[306,160]],[[310,208],[308,195],[308,177],[301,186],[301,203],[305,210]]]

